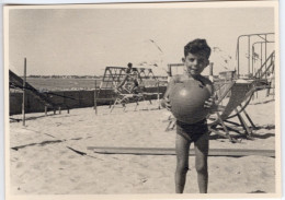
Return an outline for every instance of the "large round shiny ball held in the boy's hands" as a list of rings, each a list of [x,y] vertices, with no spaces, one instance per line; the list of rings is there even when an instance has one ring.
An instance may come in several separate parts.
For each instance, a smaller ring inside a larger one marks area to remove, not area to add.
[[[195,123],[208,115],[204,104],[209,97],[208,89],[197,80],[175,83],[169,93],[171,113],[182,122]]]

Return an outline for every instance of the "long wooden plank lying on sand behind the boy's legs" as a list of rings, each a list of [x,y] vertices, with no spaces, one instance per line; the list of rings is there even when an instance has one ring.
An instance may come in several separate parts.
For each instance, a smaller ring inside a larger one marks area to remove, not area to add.
[[[136,154],[136,155],[175,155],[174,148],[105,148],[88,146],[88,150],[102,154]],[[195,155],[190,151],[190,155]],[[275,157],[275,150],[251,150],[251,149],[209,149],[209,156],[248,156],[260,155]]]

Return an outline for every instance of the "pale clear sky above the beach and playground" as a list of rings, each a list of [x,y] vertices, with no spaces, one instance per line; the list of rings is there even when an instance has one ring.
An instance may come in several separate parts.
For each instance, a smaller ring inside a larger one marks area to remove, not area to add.
[[[239,35],[274,31],[270,7],[15,9],[9,13],[9,66],[21,75],[26,58],[27,74],[103,75],[107,66],[133,62],[167,75],[167,64],[181,62],[190,40],[206,38],[219,49],[209,58],[218,74],[237,68]]]

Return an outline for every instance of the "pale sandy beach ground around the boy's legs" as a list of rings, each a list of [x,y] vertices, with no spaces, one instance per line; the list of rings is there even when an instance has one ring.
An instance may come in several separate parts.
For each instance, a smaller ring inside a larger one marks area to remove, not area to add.
[[[209,148],[275,150],[274,106],[272,96],[260,94],[247,107],[259,128],[254,140],[231,143],[210,134]],[[27,114],[25,127],[10,121],[11,193],[174,193],[175,155],[100,154],[87,149],[174,148],[175,131],[166,131],[166,109],[157,109],[155,103],[133,108],[127,105],[126,111],[118,107],[109,114],[110,108],[101,106],[98,115],[91,107],[60,115]],[[262,155],[209,156],[208,192],[275,193],[275,161]],[[194,156],[184,192],[198,193]]]

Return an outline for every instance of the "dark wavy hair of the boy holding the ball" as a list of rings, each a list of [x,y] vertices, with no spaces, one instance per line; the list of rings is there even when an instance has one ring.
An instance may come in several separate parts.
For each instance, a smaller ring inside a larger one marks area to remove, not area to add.
[[[184,47],[184,56],[186,57],[189,54],[197,54],[197,52],[204,52],[207,58],[209,58],[210,55],[210,47],[208,46],[206,39],[194,39],[190,42]]]

